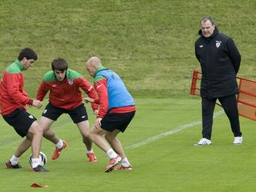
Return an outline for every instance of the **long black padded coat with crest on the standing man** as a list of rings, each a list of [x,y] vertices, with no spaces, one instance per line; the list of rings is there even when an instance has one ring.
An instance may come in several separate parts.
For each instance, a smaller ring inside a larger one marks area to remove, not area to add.
[[[200,94],[203,98],[221,98],[238,93],[236,73],[239,70],[241,55],[234,41],[219,33],[215,27],[213,34],[195,41],[195,56],[202,69]]]

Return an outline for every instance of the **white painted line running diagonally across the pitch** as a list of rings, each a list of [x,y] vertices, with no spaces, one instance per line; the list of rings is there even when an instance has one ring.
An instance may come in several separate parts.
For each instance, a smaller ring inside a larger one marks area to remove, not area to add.
[[[215,114],[213,114],[213,118],[218,117],[219,115],[222,115],[222,114],[224,114],[224,111],[223,111],[223,110],[220,110],[220,111],[216,112]],[[125,149],[129,149],[129,148],[132,148],[132,149],[134,149],[134,148],[139,148],[140,146],[143,146],[143,145],[145,145],[145,144],[148,144],[148,143],[151,143],[151,142],[153,142],[153,141],[156,141],[156,140],[158,140],[158,139],[160,139],[160,138],[163,138],[164,136],[168,136],[168,135],[171,135],[171,134],[173,134],[173,133],[177,133],[177,132],[179,132],[179,131],[181,131],[181,130],[184,130],[185,128],[194,127],[195,125],[199,125],[199,124],[201,124],[201,123],[202,123],[202,120],[197,120],[197,121],[195,121],[195,122],[192,122],[192,123],[189,123],[189,124],[186,124],[186,125],[181,125],[180,127],[177,127],[177,128],[174,128],[173,130],[169,130],[169,131],[166,131],[166,132],[161,133],[161,134],[159,134],[159,135],[153,136],[153,137],[148,138],[147,140],[142,141],[142,142],[140,142],[140,143],[132,144],[132,145],[130,145],[130,146],[127,146]]]

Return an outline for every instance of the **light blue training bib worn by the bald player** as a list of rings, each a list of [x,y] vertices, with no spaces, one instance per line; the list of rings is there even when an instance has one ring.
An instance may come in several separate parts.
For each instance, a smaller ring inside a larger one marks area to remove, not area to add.
[[[114,107],[134,106],[134,99],[115,72],[105,69],[96,73],[95,77],[98,75],[103,75],[108,80],[108,110]]]

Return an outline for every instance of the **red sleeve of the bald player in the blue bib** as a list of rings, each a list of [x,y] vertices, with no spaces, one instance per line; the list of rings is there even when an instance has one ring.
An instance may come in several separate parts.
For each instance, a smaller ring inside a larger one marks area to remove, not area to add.
[[[97,101],[100,104],[100,110],[98,112],[98,117],[103,118],[108,111],[108,87],[107,79],[103,78],[100,81],[94,83],[95,90],[98,93],[99,100]]]

